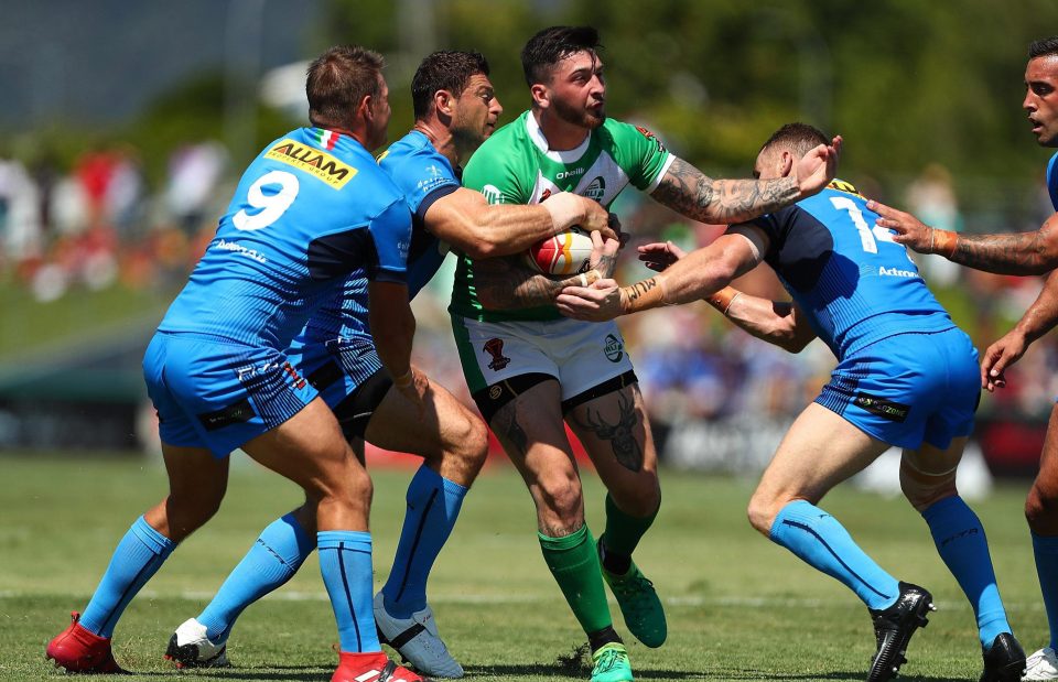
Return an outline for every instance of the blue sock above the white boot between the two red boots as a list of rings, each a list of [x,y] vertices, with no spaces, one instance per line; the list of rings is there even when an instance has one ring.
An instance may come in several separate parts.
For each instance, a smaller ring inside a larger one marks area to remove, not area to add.
[[[272,521],[198,616],[206,637],[215,642],[227,640],[239,614],[292,578],[315,549],[294,515]]]

